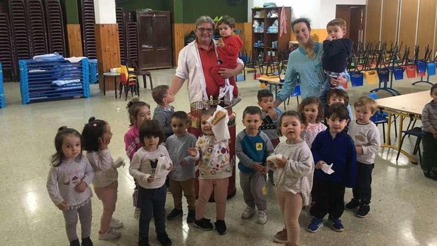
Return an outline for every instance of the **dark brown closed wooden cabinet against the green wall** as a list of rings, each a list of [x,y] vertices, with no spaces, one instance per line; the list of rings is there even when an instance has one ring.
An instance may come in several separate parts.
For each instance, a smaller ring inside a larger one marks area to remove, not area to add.
[[[136,21],[139,69],[171,68],[170,11],[137,11]]]

